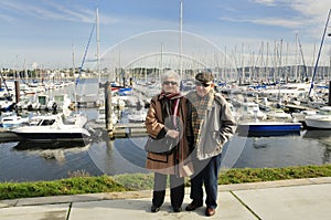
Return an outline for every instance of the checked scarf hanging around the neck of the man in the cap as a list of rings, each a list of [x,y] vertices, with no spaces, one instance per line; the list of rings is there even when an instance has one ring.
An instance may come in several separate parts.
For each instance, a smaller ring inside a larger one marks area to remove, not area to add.
[[[203,97],[200,97],[196,92],[192,93],[192,96],[189,97],[192,104],[192,128],[194,135],[194,146],[200,142],[201,137],[201,128],[204,123],[204,118],[206,115],[206,109],[209,109],[214,101],[215,92],[213,90],[210,91]]]

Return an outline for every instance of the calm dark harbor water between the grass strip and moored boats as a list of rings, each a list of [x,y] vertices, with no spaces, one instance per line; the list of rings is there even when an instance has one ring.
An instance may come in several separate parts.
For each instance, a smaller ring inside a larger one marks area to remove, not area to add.
[[[95,83],[95,82],[94,82]],[[87,90],[90,86],[86,86]],[[87,91],[89,94],[95,91]],[[89,118],[95,108],[86,108]],[[129,109],[127,109],[129,111]],[[122,121],[126,114],[119,115]],[[36,181],[89,176],[148,172],[142,137],[109,139],[99,137],[76,146],[29,146],[0,140],[0,181]],[[302,130],[298,135],[245,137],[235,135],[223,153],[224,168],[264,168],[323,165],[331,160],[331,132]]]

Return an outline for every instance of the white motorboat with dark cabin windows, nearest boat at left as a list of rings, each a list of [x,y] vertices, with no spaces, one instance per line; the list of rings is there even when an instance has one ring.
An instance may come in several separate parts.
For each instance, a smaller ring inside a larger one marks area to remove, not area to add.
[[[32,142],[82,140],[90,137],[90,133],[82,126],[79,119],[77,123],[66,123],[63,114],[39,117],[40,121],[36,125],[13,128],[11,133],[14,133],[20,139]]]

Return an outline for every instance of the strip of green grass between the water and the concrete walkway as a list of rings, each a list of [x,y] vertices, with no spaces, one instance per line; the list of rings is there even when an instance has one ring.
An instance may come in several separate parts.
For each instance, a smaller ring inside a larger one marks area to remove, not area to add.
[[[81,177],[78,177],[82,175]],[[67,179],[36,182],[0,182],[0,200],[61,195],[132,191],[152,189],[153,174],[89,177],[84,171]],[[284,179],[331,177],[331,165],[285,168],[222,169],[218,184],[244,184]],[[186,178],[185,186],[190,186]]]

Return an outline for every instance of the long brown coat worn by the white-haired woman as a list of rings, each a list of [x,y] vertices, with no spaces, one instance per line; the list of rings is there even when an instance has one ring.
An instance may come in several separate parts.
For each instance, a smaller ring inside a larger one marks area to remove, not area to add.
[[[157,137],[160,130],[164,127],[162,119],[162,98],[164,96],[157,95],[151,99],[149,111],[146,117],[146,128],[147,133]],[[186,98],[181,97],[179,104],[179,119],[181,126],[181,138],[178,145],[178,163],[175,163],[175,154],[170,155],[159,155],[153,153],[147,153],[146,168],[156,172],[164,175],[178,175],[180,177],[188,177],[193,174],[193,166],[190,157],[189,144],[184,134],[186,117],[188,117],[188,107]],[[164,127],[168,130],[167,127]]]

